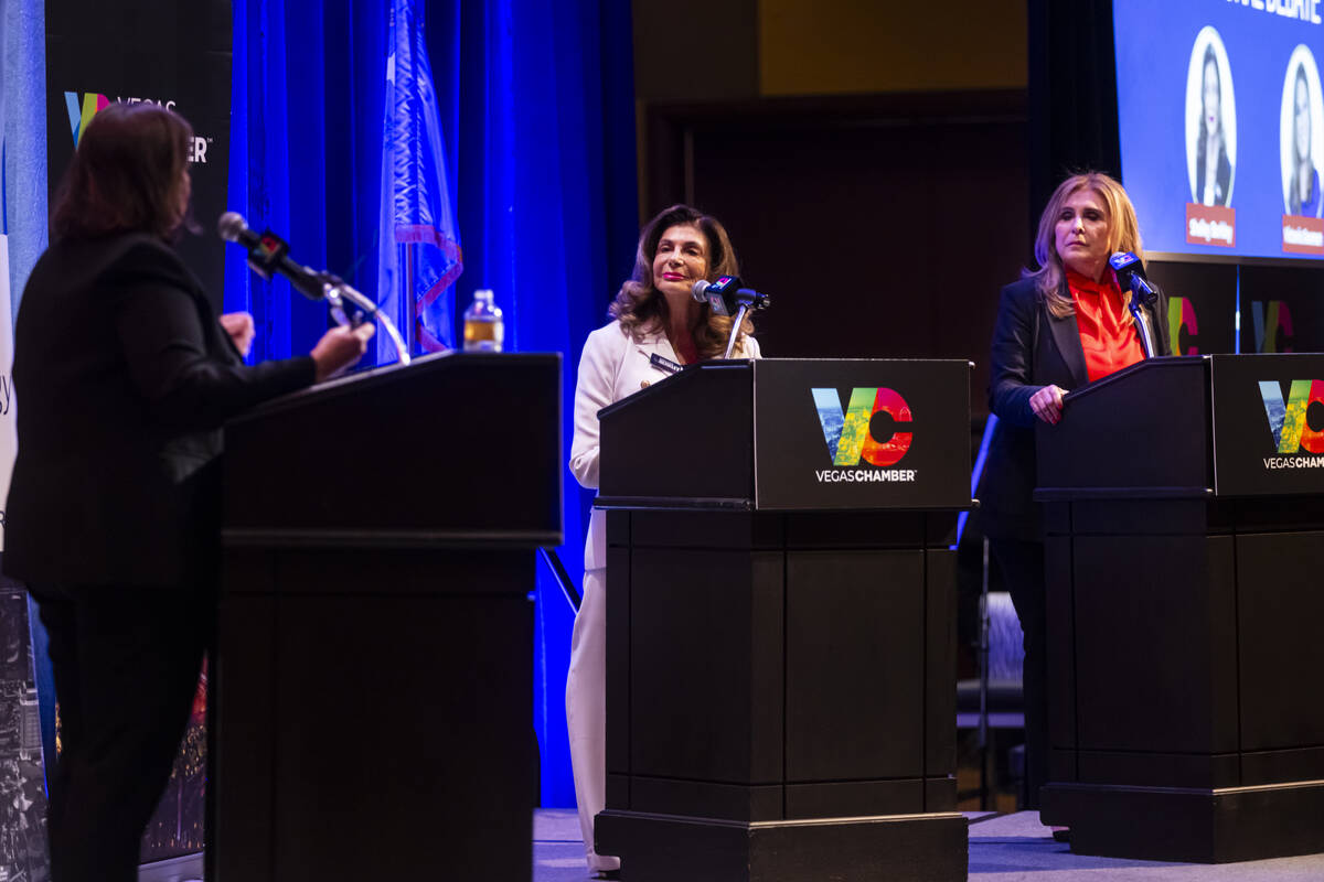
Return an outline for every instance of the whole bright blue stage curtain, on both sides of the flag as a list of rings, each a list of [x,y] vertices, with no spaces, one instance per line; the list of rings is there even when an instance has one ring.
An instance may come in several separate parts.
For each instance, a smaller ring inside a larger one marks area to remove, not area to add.
[[[455,312],[475,288],[493,288],[507,350],[564,353],[568,454],[580,349],[606,323],[638,235],[629,4],[420,1],[465,249]],[[385,0],[234,3],[229,205],[250,226],[285,233],[297,259],[328,266],[369,296],[387,13]],[[326,327],[322,307],[291,299],[283,282],[253,278],[237,249],[228,257],[225,307],[254,313],[257,358],[307,352]],[[410,443],[381,439],[383,452],[418,468],[459,467],[428,461],[425,444],[402,448]],[[564,485],[557,551],[581,579],[592,493],[568,471]],[[573,805],[564,702],[572,614],[542,570],[536,600],[542,800]]]

